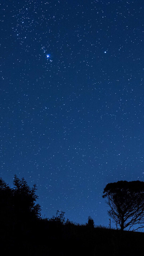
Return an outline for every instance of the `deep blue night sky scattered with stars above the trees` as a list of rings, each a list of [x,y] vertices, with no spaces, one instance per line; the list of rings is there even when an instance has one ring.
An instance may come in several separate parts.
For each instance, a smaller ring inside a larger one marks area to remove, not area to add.
[[[108,225],[106,184],[144,181],[144,1],[1,0],[0,30],[0,176]]]

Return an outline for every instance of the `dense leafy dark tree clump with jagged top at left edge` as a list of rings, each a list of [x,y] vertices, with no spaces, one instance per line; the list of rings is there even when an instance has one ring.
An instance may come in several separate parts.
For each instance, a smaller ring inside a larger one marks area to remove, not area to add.
[[[36,185],[30,188],[22,178],[15,175],[13,188],[0,178],[0,225],[4,229],[40,218],[40,205],[35,194]]]

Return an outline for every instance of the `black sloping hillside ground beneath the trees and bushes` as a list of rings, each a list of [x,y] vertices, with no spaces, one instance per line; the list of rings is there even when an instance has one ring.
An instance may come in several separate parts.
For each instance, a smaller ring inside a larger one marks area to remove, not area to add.
[[[142,256],[144,233],[39,220],[0,235],[1,251],[41,256]],[[3,253],[2,253],[3,255]]]

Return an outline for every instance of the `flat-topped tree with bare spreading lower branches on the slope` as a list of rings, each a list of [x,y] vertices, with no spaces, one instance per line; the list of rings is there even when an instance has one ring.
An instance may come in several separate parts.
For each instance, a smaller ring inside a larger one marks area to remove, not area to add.
[[[117,181],[108,183],[104,188],[103,198],[107,198],[110,206],[108,215],[116,226],[125,228],[135,226],[132,231],[144,227],[144,182],[143,181]]]

